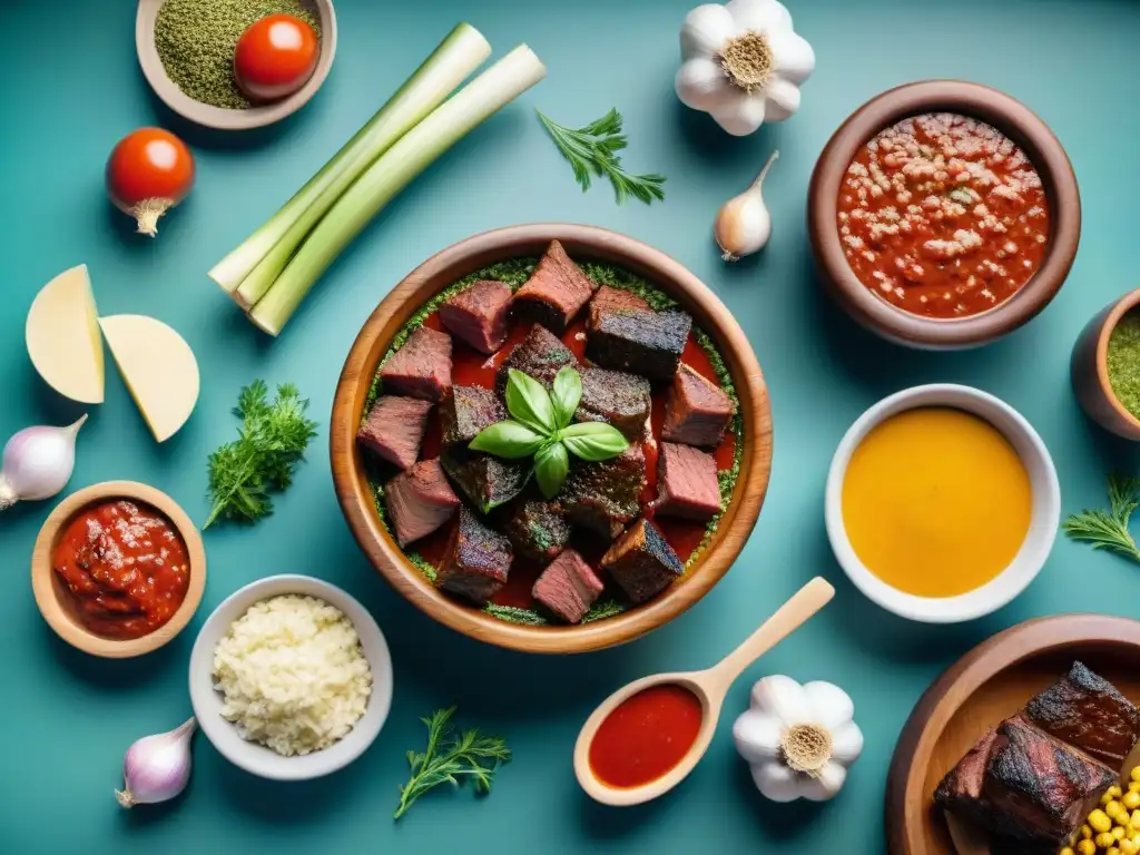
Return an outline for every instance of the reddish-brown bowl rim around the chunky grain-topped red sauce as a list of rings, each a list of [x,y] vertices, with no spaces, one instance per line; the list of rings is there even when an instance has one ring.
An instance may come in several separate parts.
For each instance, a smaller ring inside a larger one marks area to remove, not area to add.
[[[1052,217],[1049,249],[1036,275],[1004,303],[967,318],[925,318],[880,300],[848,266],[837,226],[839,187],[858,149],[895,122],[937,112],[979,119],[1020,146],[1041,176]],[[1076,256],[1081,237],[1081,196],[1065,149],[1028,107],[977,83],[929,80],[872,98],[840,125],[812,174],[807,226],[820,278],[852,318],[898,344],[950,350],[999,339],[1049,304]]]

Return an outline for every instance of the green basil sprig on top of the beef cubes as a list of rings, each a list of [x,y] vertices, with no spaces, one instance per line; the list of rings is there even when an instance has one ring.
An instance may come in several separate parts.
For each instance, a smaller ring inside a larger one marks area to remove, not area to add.
[[[506,408],[513,416],[479,432],[467,448],[508,461],[534,455],[535,479],[543,495],[559,495],[570,473],[570,451],[584,461],[608,461],[629,447],[612,424],[570,424],[581,400],[581,377],[570,366],[554,377],[553,394],[531,376],[510,368]]]

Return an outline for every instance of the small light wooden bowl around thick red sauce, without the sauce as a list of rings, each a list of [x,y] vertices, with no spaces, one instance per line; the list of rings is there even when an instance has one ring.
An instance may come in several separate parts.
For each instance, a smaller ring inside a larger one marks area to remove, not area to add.
[[[190,556],[190,586],[178,611],[153,633],[127,641],[106,638],[84,627],[75,614],[71,594],[51,567],[51,553],[55,552],[59,537],[75,515],[91,505],[113,499],[140,502],[162,513],[182,538]],[[35,594],[35,604],[43,619],[48,621],[48,626],[73,648],[107,659],[128,659],[149,653],[178,635],[194,617],[198,603],[202,602],[205,584],[206,553],[202,545],[202,536],[194,528],[190,518],[166,494],[135,481],[104,481],[73,492],[44,520],[32,552],[32,591]]]

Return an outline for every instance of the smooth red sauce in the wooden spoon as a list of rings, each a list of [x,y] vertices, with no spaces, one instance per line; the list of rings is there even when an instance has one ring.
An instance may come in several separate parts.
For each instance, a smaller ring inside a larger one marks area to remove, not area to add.
[[[697,741],[703,709],[682,686],[665,683],[627,698],[589,743],[589,767],[604,784],[642,787],[668,774]]]

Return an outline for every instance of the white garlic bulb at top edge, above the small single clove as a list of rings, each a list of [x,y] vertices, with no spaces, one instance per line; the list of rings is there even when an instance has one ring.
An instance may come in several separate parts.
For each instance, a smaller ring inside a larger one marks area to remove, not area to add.
[[[744,137],[799,109],[799,87],[815,70],[812,46],[777,0],[698,6],[681,30],[677,97]]]

